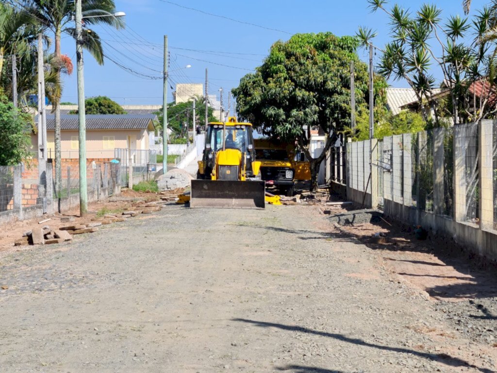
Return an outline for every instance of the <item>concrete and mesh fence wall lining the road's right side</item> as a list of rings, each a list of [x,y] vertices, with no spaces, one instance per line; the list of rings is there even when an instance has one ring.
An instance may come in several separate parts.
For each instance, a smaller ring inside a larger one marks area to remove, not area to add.
[[[383,201],[387,216],[497,260],[496,132],[497,121],[485,120],[385,137],[377,146],[373,140],[372,163],[378,167],[366,193],[369,141],[348,143],[347,198],[362,203],[365,196],[365,206],[373,208]],[[343,192],[337,183],[332,187]]]

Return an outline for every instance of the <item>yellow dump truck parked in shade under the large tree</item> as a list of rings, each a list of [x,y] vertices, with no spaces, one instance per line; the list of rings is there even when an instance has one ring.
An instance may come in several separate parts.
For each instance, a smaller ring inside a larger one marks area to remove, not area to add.
[[[295,146],[274,140],[254,140],[255,156],[261,162],[261,179],[280,193],[292,196],[295,181],[311,180],[309,162]]]

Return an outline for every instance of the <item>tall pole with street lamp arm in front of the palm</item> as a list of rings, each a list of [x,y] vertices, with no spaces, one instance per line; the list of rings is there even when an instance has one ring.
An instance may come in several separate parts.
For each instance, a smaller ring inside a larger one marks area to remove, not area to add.
[[[78,73],[78,123],[79,123],[79,166],[80,166],[80,216],[86,214],[88,193],[86,188],[86,117],[84,113],[84,77],[83,77],[83,18],[123,17],[124,12],[88,15],[83,17],[83,0],[76,0],[76,61]],[[102,10],[102,12],[104,12]],[[106,12],[105,12],[106,13]]]

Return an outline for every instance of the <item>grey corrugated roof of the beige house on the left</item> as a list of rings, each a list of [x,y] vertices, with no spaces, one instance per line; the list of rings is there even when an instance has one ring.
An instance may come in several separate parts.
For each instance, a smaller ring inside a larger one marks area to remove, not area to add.
[[[155,114],[122,114],[122,115],[86,115],[86,129],[147,129]],[[36,118],[38,119],[38,118]],[[78,115],[61,115],[62,130],[77,130],[79,128]],[[55,129],[55,116],[47,115],[47,129]]]

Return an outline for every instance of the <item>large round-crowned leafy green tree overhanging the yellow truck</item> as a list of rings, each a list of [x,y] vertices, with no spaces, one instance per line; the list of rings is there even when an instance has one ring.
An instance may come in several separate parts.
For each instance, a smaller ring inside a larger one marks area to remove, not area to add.
[[[233,90],[241,118],[265,135],[295,142],[307,155],[311,190],[317,189],[319,166],[331,144],[350,126],[351,61],[357,106],[364,107],[368,99],[367,66],[357,57],[358,45],[355,37],[330,32],[296,34],[274,43],[263,64]],[[311,129],[328,135],[318,157],[309,151]]]

